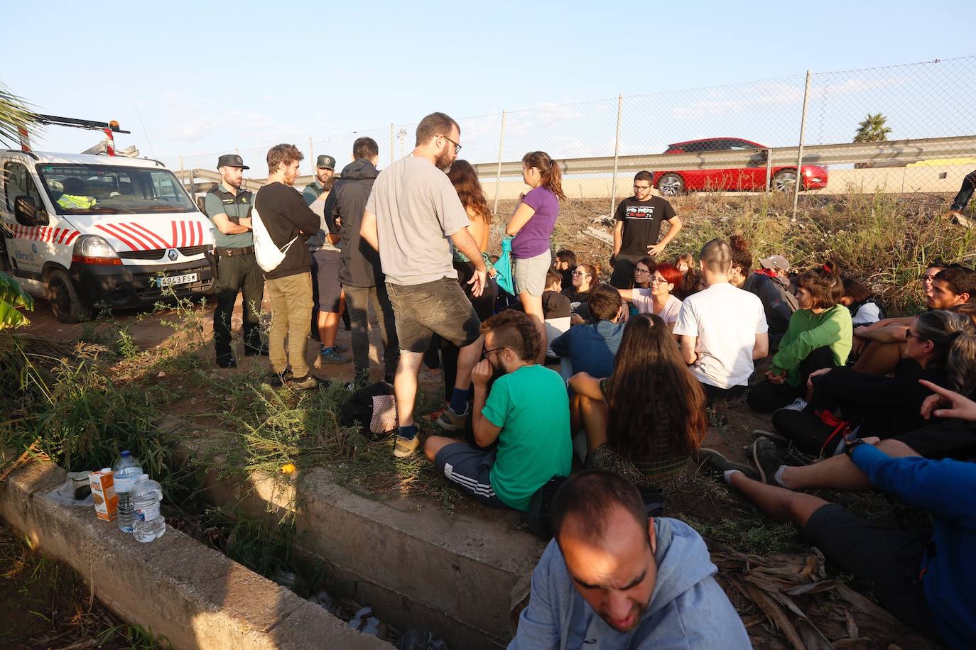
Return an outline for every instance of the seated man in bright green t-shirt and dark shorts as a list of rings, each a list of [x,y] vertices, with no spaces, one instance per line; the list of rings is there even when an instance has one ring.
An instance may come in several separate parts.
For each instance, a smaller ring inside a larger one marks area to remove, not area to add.
[[[568,477],[573,444],[569,398],[559,373],[535,363],[542,340],[523,312],[481,324],[485,359],[471,370],[471,427],[478,448],[431,436],[427,460],[481,503],[528,511],[552,477]],[[488,382],[498,376],[489,394]],[[497,442],[497,446],[488,449]]]

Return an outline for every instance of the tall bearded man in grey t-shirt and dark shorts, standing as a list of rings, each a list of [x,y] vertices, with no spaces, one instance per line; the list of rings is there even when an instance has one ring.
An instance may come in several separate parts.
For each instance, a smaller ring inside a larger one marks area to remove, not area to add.
[[[363,214],[360,233],[380,251],[386,290],[396,317],[400,361],[393,391],[399,418],[393,455],[404,458],[420,445],[414,424],[417,378],[434,333],[461,352],[451,405],[437,423],[460,431],[470,415],[471,368],[481,357],[480,321],[458,284],[451,244],[475,260],[471,292],[481,295],[487,269],[468,233],[468,214],[444,173],[461,149],[458,123],[443,113],[417,126],[417,146],[408,157],[380,172]],[[450,241],[448,241],[450,240]]]

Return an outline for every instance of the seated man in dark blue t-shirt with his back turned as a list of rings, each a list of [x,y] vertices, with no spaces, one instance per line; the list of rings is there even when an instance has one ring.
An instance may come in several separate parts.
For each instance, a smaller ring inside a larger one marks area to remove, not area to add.
[[[597,285],[590,290],[590,317],[594,323],[570,327],[550,345],[557,357],[571,364],[572,372],[567,377],[577,372],[610,376],[624,337],[624,324],[620,323],[622,304],[620,293],[610,285]]]

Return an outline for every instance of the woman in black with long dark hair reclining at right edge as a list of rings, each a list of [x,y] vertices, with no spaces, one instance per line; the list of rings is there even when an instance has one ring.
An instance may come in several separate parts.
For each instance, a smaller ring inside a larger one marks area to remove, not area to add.
[[[797,312],[798,313],[798,312]],[[921,403],[932,392],[919,379],[969,396],[976,388],[976,326],[968,316],[926,312],[906,332],[906,359],[893,377],[824,368],[808,380],[809,403],[802,411],[773,413],[776,431],[811,454],[833,454],[834,432],[860,425],[861,438],[893,438],[925,426]]]

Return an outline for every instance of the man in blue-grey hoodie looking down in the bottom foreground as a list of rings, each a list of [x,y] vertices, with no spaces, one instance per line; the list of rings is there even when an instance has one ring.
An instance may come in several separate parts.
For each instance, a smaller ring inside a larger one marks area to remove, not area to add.
[[[551,513],[555,539],[508,650],[752,647],[705,542],[682,521],[649,519],[626,478],[582,472]]]

